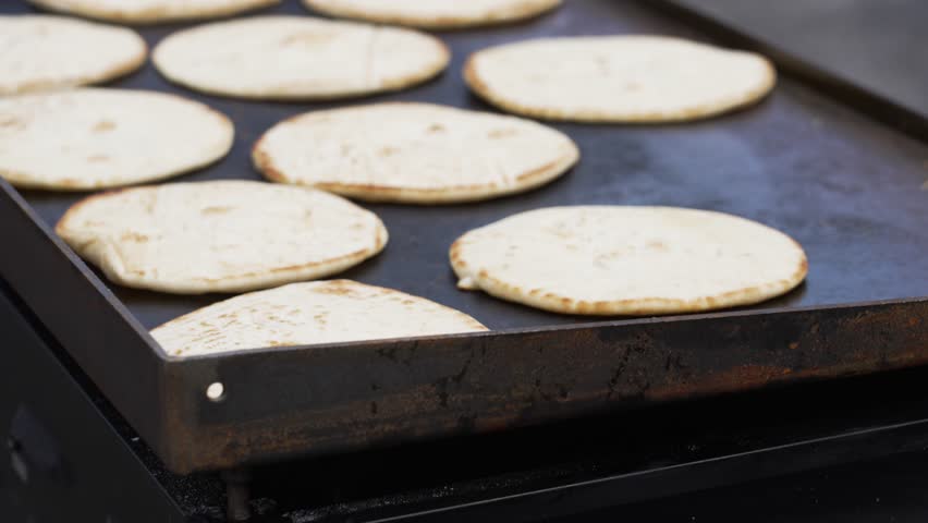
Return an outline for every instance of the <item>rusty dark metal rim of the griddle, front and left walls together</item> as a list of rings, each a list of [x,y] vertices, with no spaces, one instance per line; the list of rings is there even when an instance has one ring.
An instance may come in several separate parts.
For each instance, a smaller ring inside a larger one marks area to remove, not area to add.
[[[0,275],[180,473],[928,363],[928,297],[181,361],[15,190],[0,188],[13,253],[0,256]],[[219,402],[205,394],[215,381]]]

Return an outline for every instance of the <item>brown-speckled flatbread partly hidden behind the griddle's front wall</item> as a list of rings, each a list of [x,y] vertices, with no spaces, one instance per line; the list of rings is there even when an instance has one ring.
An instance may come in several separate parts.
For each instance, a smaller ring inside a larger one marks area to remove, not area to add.
[[[424,297],[330,280],[235,296],[168,321],[151,336],[168,354],[193,356],[485,330],[471,316]]]

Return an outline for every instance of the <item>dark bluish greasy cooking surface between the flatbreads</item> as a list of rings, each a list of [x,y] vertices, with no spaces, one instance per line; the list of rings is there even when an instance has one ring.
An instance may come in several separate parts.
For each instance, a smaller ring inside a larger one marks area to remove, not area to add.
[[[229,157],[176,181],[260,180],[251,162],[252,144],[276,122],[300,112],[386,100],[490,110],[461,78],[467,54],[487,46],[581,34],[655,33],[706,39],[645,3],[571,0],[555,13],[525,24],[441,34],[453,51],[442,76],[403,93],[362,100],[279,104],[204,96],[170,85],[150,62],[111,85],[176,93],[205,101],[234,121],[235,146]],[[29,9],[0,7],[0,12],[17,11]],[[264,12],[306,14],[295,1]],[[154,47],[180,27],[142,28],[141,33]],[[589,321],[595,318],[559,316],[459,291],[448,265],[449,245],[472,228],[538,207],[676,205],[752,218],[805,246],[810,264],[807,282],[756,308],[928,295],[924,259],[928,191],[921,190],[928,178],[928,147],[794,81],[781,76],[772,96],[760,105],[698,123],[554,126],[573,137],[583,154],[581,163],[563,179],[525,195],[475,205],[363,204],[383,219],[390,243],[383,254],[341,276],[438,301],[493,329]],[[24,195],[49,224],[81,197],[34,191]],[[149,328],[227,297],[110,288]]]

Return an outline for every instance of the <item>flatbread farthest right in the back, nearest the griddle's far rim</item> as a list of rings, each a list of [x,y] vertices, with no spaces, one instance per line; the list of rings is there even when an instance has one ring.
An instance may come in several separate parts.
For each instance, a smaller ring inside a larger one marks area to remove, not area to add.
[[[747,106],[777,81],[770,61],[663,36],[518,41],[478,51],[471,88],[508,111],[579,122],[672,122]]]

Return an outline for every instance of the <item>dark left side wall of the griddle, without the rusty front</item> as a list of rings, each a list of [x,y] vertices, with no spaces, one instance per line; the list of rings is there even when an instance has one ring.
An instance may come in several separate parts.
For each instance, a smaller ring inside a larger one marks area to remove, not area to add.
[[[0,178],[0,276],[143,438],[163,451],[163,353],[84,262]],[[54,275],[52,277],[52,275]]]

